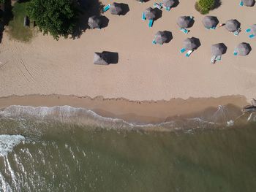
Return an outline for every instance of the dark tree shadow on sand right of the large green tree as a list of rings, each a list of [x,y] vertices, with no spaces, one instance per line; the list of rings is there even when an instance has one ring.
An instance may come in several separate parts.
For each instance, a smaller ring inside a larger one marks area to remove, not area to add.
[[[99,0],[78,0],[78,24],[72,33],[72,39],[80,38],[83,32],[89,28],[88,20],[91,16],[99,16],[102,19],[102,28],[108,26],[108,18],[101,15],[104,5]]]

